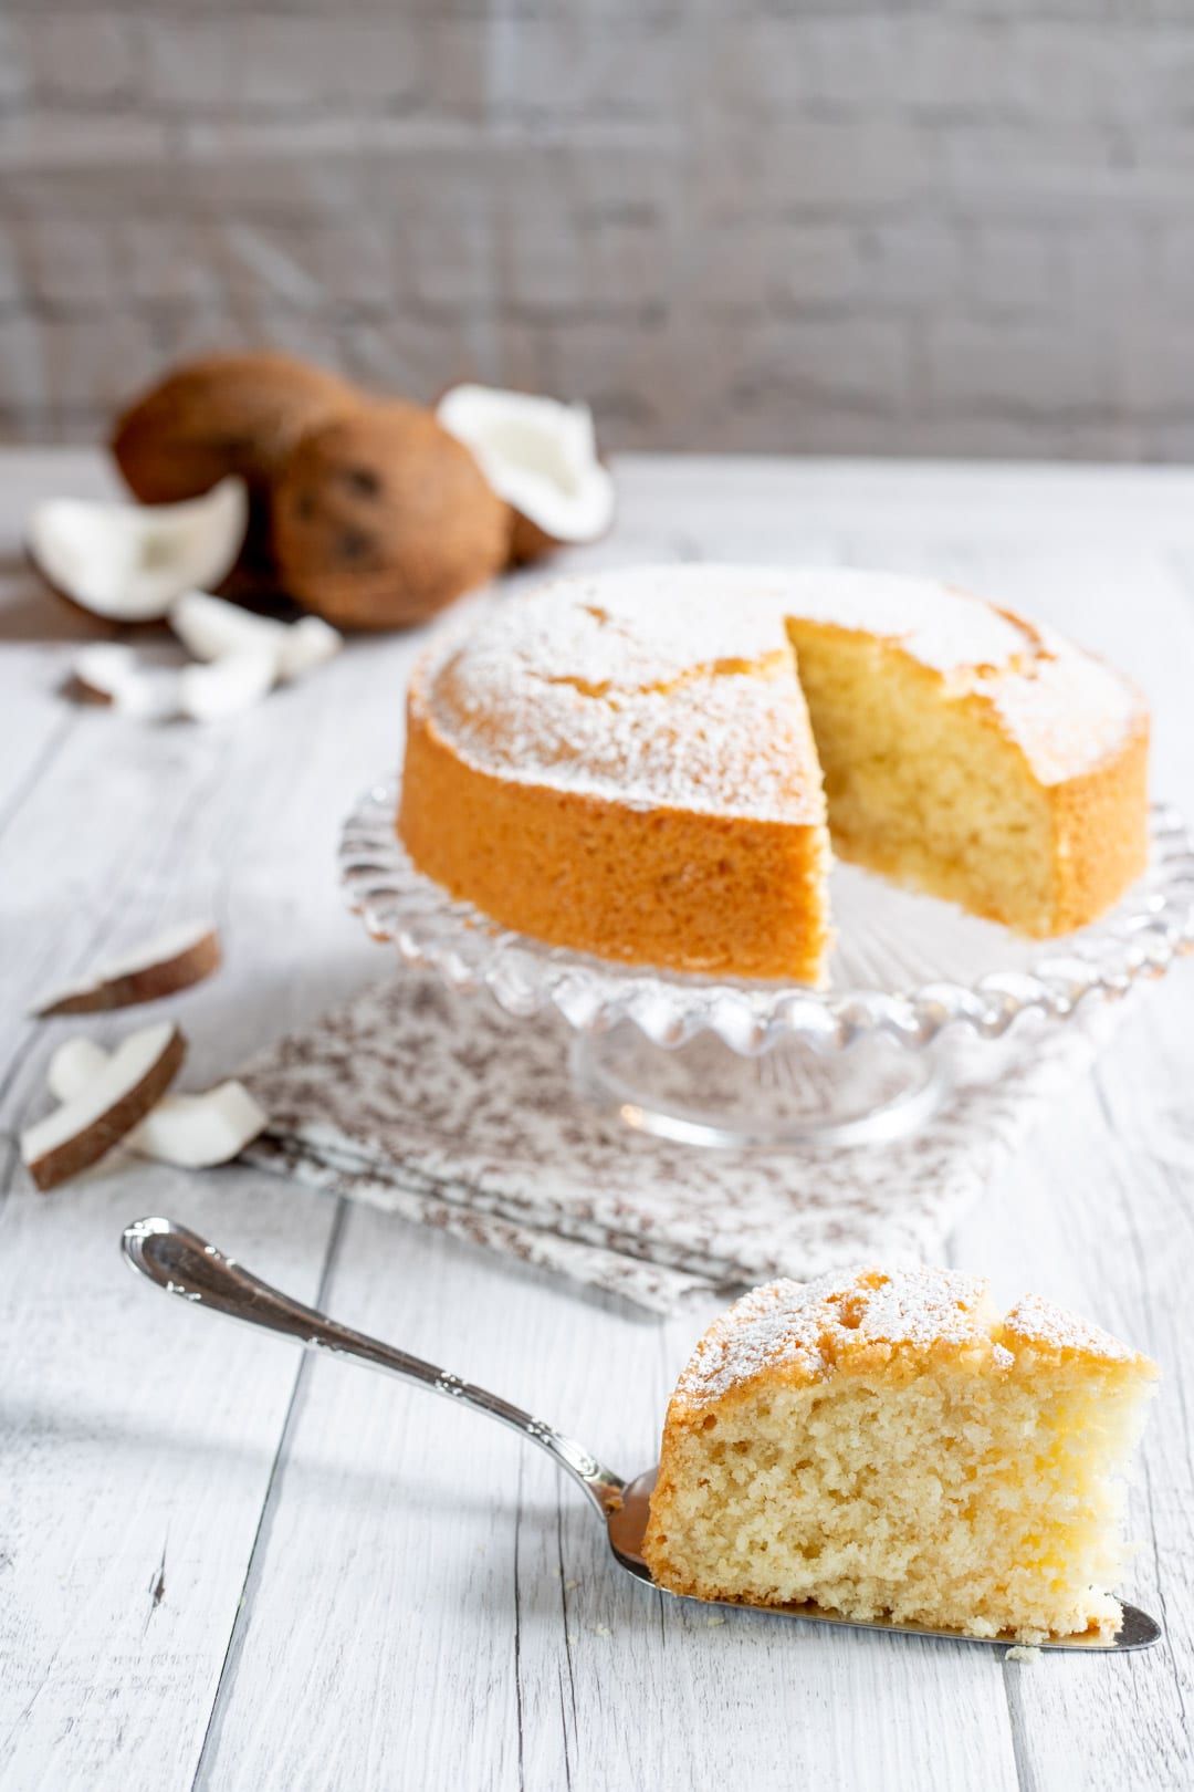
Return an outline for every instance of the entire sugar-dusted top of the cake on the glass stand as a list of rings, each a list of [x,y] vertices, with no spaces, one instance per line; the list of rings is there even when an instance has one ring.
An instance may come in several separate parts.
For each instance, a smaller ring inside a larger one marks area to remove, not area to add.
[[[1144,726],[1099,659],[929,579],[841,566],[627,566],[496,604],[424,661],[426,702],[480,771],[643,808],[820,823],[784,618],[874,634],[986,702],[1042,783]]]

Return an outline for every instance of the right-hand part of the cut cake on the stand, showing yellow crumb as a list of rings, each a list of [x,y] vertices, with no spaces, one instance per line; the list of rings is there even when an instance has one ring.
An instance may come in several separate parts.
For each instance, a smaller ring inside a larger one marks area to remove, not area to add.
[[[834,851],[1020,934],[1069,934],[1147,858],[1147,710],[1112,667],[927,579],[786,600]]]

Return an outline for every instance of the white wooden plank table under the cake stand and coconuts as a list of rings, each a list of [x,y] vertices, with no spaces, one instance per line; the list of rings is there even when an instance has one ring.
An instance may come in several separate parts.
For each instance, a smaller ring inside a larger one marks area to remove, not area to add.
[[[850,559],[934,570],[1113,654],[1194,806],[1194,473],[627,459],[589,563]],[[0,1785],[47,1792],[1194,1783],[1194,969],[1131,1005],[951,1245],[1155,1353],[1131,1516],[1146,1656],[1001,1654],[766,1615],[723,1622],[603,1559],[498,1426],[166,1305],[116,1254],[170,1213],[297,1296],[555,1417],[635,1471],[707,1312],[669,1324],[263,1174],[141,1165],[32,1192],[16,1129],[68,1021],[39,989],[159,923],[220,918],[179,998],[186,1079],[383,969],[342,909],[342,812],[399,751],[417,638],[362,640],[222,728],[59,694],[88,625],[20,559],[29,504],[97,457],[0,457]],[[576,559],[582,559],[576,556]],[[145,1012],[145,1011],[141,1011]],[[134,1016],[100,1023],[104,1036]]]

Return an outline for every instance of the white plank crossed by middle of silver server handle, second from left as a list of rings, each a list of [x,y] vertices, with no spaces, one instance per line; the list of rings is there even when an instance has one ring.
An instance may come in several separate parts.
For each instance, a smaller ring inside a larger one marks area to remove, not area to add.
[[[347,1324],[505,1373],[510,1398],[542,1303],[575,1312],[369,1210],[349,1213],[328,1290]],[[517,1478],[512,1434],[310,1360],[199,1783],[517,1787]]]

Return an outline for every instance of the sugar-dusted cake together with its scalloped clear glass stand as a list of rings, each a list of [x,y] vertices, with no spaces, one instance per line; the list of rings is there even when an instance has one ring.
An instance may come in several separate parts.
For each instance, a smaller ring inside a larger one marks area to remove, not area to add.
[[[342,867],[408,964],[562,1016],[628,1125],[875,1142],[938,1106],[958,1030],[1190,948],[1147,740],[1121,672],[933,581],[618,568],[433,640]]]

